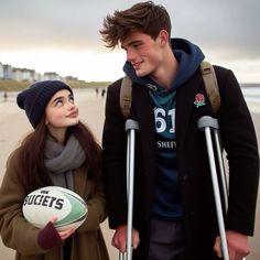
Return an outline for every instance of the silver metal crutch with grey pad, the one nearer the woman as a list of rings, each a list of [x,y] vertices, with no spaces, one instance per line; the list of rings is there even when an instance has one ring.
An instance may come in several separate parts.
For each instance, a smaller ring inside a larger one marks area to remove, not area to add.
[[[127,260],[132,259],[132,212],[133,212],[133,180],[136,131],[139,124],[132,119],[126,121],[127,143],[127,195],[128,195],[128,229],[127,229]],[[119,260],[124,260],[124,253],[119,252]]]

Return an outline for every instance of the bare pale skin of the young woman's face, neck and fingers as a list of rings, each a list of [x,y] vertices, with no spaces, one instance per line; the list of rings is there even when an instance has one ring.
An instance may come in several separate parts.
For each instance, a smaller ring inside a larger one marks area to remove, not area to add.
[[[78,123],[78,107],[74,102],[74,97],[67,89],[62,89],[54,94],[45,108],[45,124],[50,134],[61,144],[64,144],[67,128]],[[50,221],[57,220],[53,217]],[[58,231],[62,240],[65,240],[75,231],[75,228]]]

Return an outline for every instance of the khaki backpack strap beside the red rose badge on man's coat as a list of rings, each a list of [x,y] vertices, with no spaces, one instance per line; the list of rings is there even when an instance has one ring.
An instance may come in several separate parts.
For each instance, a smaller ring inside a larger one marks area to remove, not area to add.
[[[203,61],[201,63],[201,72],[207,96],[212,102],[213,112],[216,115],[220,107],[221,100],[215,69],[210,63]]]

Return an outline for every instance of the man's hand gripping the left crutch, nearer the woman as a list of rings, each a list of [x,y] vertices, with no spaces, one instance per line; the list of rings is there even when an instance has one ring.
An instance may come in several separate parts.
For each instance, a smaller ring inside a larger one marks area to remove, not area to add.
[[[119,226],[112,237],[112,246],[116,247],[120,252],[127,251],[127,225]],[[136,249],[139,245],[139,232],[132,229],[132,247]]]

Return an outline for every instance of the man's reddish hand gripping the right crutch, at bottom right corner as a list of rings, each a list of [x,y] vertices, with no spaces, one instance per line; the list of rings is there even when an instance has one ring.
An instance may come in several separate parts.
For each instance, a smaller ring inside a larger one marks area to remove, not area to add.
[[[229,260],[241,260],[250,252],[248,236],[232,230],[226,231]],[[219,258],[223,257],[220,238],[217,237],[214,246],[215,252]]]

